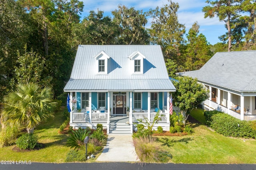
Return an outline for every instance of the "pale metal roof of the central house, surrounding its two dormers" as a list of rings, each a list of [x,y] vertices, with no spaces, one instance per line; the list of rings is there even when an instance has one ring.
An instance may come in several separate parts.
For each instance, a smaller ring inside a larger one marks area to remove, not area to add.
[[[98,74],[94,58],[104,51],[108,59],[108,74]],[[143,74],[134,74],[128,57],[139,52],[143,59]],[[79,45],[70,80],[64,91],[86,90],[156,90],[175,91],[169,80],[160,45]]]

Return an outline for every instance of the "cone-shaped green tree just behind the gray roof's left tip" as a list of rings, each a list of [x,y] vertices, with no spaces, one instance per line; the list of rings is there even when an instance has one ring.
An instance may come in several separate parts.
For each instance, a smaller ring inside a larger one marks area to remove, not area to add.
[[[200,69],[212,56],[210,44],[206,41],[206,37],[199,33],[199,28],[200,26],[195,22],[186,35],[188,43],[183,55],[186,59],[185,69],[188,71]]]

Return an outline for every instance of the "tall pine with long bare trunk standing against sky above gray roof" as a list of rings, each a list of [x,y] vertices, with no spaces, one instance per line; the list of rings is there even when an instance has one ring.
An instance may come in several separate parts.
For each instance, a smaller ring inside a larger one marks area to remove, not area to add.
[[[206,0],[206,3],[211,4],[211,6],[205,6],[202,9],[204,12],[204,18],[213,18],[217,16],[220,21],[226,23],[226,28],[228,30],[228,51],[232,47],[232,29],[231,22],[234,22],[238,15],[238,3],[242,0]]]

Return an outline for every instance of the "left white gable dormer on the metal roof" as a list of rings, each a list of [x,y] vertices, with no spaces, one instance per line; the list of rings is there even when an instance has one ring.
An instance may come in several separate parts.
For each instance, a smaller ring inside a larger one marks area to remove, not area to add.
[[[105,51],[100,51],[100,53],[94,56],[94,59],[97,61],[97,74],[108,74],[108,59],[110,59],[110,55],[108,55]]]

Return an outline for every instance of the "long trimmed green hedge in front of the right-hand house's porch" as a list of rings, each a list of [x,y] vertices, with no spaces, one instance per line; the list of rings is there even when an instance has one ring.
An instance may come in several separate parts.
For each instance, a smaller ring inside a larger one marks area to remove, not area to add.
[[[212,115],[211,119],[210,127],[217,133],[224,136],[246,138],[256,137],[256,130],[254,130],[247,121],[241,121],[226,113],[217,113]]]

